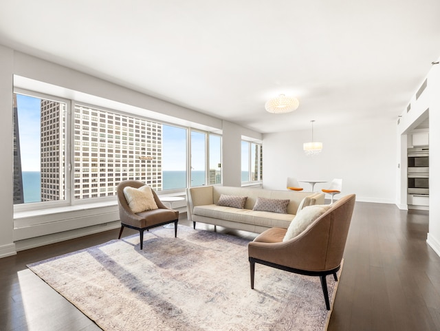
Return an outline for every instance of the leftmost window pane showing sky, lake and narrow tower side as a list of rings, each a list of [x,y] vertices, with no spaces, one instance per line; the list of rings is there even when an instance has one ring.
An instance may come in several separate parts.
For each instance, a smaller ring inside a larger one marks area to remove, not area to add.
[[[65,200],[65,103],[13,98],[14,204]]]

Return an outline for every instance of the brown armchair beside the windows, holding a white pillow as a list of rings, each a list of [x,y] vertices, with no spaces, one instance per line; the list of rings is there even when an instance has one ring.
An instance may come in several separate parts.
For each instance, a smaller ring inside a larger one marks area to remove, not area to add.
[[[177,237],[177,222],[179,221],[179,211],[173,209],[168,209],[157,197],[155,191],[153,192],[154,200],[157,204],[158,209],[153,209],[151,211],[142,211],[140,213],[133,213],[131,211],[129,204],[126,202],[124,195],[124,187],[131,186],[135,189],[139,189],[144,186],[143,182],[137,182],[135,180],[125,180],[120,182],[117,189],[118,194],[118,206],[119,206],[119,217],[121,221],[121,231],[119,233],[118,239],[121,238],[122,231],[124,227],[134,228],[140,233],[140,249],[142,249],[142,244],[144,241],[144,231],[148,231],[150,228],[155,228],[156,226],[161,226],[169,223],[174,223],[174,236]]]

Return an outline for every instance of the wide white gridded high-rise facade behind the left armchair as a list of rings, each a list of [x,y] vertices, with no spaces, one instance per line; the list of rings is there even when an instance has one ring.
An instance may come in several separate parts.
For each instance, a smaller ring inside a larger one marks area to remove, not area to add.
[[[76,200],[116,194],[123,180],[162,190],[162,124],[75,105]]]

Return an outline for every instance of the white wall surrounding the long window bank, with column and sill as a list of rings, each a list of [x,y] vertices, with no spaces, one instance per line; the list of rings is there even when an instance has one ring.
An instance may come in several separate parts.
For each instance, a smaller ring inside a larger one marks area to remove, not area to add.
[[[63,217],[58,215],[59,220],[54,220],[52,223],[14,228],[12,202],[13,79],[16,86],[36,92],[53,92],[56,96],[93,103],[102,107],[112,107],[188,127],[219,132],[223,130],[225,137],[223,140],[223,180],[225,184],[241,185],[241,136],[261,139],[260,133],[239,125],[223,122],[219,118],[153,98],[68,67],[16,52],[2,45],[0,45],[0,63],[0,111],[2,118],[0,129],[3,135],[3,143],[0,145],[2,155],[0,171],[3,176],[0,186],[0,257],[15,254],[16,250],[105,231],[110,227],[118,226],[118,222],[115,222],[118,221],[118,212],[116,210],[108,211],[108,208],[104,207],[88,209],[89,213],[72,209],[63,212],[65,213]],[[28,215],[28,217],[33,217],[33,215]],[[50,217],[54,216],[47,215],[47,220],[51,220]]]

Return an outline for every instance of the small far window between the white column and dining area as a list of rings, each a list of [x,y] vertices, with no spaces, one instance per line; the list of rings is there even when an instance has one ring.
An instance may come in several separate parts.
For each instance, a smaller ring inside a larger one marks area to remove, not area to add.
[[[241,141],[241,182],[263,180],[263,145]]]

